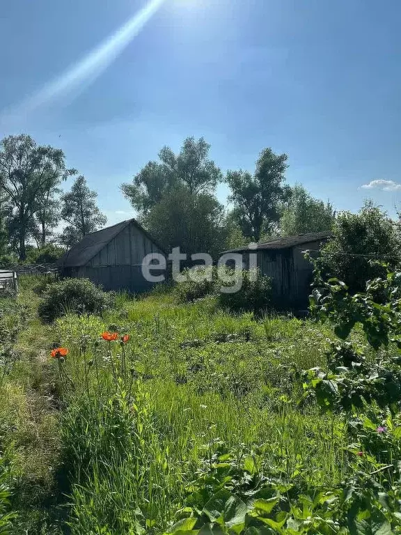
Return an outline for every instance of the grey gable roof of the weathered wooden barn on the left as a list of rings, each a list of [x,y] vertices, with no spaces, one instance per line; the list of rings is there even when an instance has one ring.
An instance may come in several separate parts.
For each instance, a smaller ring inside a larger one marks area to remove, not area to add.
[[[106,245],[116,238],[120,232],[124,230],[129,224],[134,223],[134,225],[139,228],[139,230],[145,234],[159,249],[163,251],[152,236],[136,221],[136,219],[127,219],[121,223],[117,223],[113,226],[107,226],[102,228],[100,231],[92,232],[87,234],[77,245],[74,245],[70,251],[66,252],[65,255],[58,262],[59,265],[63,267],[81,267],[86,265],[92,258],[97,255]]]

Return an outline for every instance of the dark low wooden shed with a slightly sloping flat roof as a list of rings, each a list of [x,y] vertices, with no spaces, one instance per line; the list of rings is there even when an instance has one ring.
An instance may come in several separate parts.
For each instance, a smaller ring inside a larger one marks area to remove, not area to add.
[[[257,254],[260,271],[272,277],[274,300],[279,307],[302,309],[308,306],[313,266],[304,251],[318,251],[330,238],[330,232],[299,234],[275,238],[239,249],[225,251],[243,255],[243,265],[249,267],[249,254]]]

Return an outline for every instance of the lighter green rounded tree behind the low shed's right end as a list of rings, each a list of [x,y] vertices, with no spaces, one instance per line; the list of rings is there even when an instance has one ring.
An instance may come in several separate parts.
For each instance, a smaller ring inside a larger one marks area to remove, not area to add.
[[[335,219],[336,212],[331,203],[314,199],[303,186],[296,184],[281,216],[281,235],[329,231]]]

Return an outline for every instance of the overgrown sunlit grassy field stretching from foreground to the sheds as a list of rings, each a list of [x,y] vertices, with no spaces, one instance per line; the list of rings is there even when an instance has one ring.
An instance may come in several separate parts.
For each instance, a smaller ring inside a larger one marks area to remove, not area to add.
[[[12,348],[0,378],[11,533],[163,533],[217,452],[300,488],[355,469],[344,421],[300,403],[299,374],[325,365],[331,327],[233,316],[212,297],[177,304],[168,292],[118,295],[102,317],[43,325],[40,285],[22,281],[17,303],[0,304]],[[55,346],[68,348],[65,362],[50,356]]]

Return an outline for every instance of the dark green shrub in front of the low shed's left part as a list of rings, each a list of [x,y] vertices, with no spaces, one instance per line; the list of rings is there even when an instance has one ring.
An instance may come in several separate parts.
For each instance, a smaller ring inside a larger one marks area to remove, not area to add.
[[[222,288],[233,286],[235,280],[238,290],[231,293],[223,291],[219,294],[221,307],[232,311],[263,310],[272,305],[272,279],[263,275],[260,270],[231,270],[229,282],[224,282]]]

